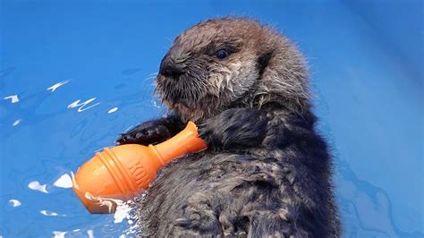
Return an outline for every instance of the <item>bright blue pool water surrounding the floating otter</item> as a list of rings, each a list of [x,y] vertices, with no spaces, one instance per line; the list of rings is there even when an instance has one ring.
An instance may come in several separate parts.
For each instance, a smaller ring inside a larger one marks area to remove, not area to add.
[[[178,33],[236,15],[284,32],[310,63],[343,236],[424,237],[421,1],[0,4],[0,236],[133,235],[54,183],[165,112],[152,77]]]

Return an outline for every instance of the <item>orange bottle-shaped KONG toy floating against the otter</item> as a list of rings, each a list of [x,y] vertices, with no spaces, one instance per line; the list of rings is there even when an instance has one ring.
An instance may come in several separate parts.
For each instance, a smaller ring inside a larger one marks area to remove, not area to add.
[[[156,146],[122,145],[98,152],[73,177],[73,191],[90,213],[114,213],[114,200],[131,200],[174,158],[206,149],[194,123]]]

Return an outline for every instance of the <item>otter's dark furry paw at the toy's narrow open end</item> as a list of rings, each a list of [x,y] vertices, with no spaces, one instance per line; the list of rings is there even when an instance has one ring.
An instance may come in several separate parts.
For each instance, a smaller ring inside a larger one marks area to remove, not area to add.
[[[233,108],[199,124],[199,136],[210,149],[258,147],[267,132],[267,116],[252,108]]]

